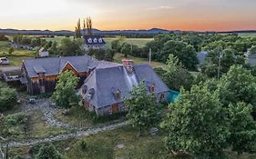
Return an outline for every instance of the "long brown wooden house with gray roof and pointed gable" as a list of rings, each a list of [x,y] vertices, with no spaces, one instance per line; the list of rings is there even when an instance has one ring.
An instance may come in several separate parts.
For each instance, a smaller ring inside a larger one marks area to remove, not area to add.
[[[97,61],[88,55],[30,58],[26,59],[22,65],[23,84],[26,84],[29,94],[40,94],[53,92],[57,82],[57,75],[66,70],[71,70],[79,77],[78,86],[97,66],[108,67],[116,64]]]

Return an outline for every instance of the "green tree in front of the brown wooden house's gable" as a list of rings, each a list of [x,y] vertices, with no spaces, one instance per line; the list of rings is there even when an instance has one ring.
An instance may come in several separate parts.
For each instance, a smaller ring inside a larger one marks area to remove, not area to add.
[[[58,75],[56,91],[52,95],[56,106],[70,108],[73,104],[78,104],[77,77],[71,71],[66,71]]]

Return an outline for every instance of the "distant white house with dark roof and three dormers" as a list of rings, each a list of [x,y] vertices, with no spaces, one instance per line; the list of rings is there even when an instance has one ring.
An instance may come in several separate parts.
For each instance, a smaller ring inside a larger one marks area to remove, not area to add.
[[[98,35],[85,35],[85,44],[82,45],[83,50],[89,49],[105,49],[106,43],[101,36]]]

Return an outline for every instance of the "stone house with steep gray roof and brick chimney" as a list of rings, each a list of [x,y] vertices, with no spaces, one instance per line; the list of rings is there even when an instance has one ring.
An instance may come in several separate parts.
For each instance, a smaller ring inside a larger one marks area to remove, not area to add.
[[[87,77],[81,87],[84,106],[99,116],[125,112],[124,99],[140,82],[148,88],[148,94],[156,95],[157,102],[168,100],[169,87],[150,65],[132,65],[132,61],[124,60],[123,65],[97,67]]]

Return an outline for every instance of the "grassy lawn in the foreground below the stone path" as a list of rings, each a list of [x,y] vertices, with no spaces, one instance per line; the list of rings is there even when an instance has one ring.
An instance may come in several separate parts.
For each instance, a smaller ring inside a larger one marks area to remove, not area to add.
[[[64,159],[189,159],[189,156],[172,156],[165,149],[164,133],[152,136],[148,133],[138,137],[138,132],[130,125],[113,131],[89,135],[83,138],[54,142]],[[81,147],[81,142],[87,148]],[[118,148],[118,145],[123,148]],[[10,155],[28,155],[30,147],[12,148]],[[228,158],[236,158],[236,154],[226,151]],[[240,159],[255,159],[256,154],[242,154]]]

